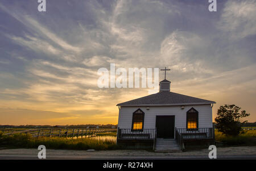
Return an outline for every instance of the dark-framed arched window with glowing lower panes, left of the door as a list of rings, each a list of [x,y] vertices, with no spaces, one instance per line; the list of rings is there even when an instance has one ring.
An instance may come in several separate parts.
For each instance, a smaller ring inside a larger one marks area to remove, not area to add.
[[[144,112],[141,109],[137,109],[133,113],[133,123],[131,125],[131,130],[142,131],[144,126]]]

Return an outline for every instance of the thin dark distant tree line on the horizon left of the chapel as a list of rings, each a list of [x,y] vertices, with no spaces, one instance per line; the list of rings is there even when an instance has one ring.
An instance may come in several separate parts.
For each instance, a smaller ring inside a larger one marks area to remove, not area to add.
[[[117,125],[107,124],[107,125],[94,125],[94,124],[86,124],[86,125],[0,125],[0,129],[86,129],[86,128],[104,128],[111,129],[117,128]]]

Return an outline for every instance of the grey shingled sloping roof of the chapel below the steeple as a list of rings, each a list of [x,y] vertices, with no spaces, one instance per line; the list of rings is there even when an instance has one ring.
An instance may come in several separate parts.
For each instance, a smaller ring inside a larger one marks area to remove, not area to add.
[[[175,106],[215,104],[214,101],[185,96],[174,92],[159,92],[117,104],[117,106]]]

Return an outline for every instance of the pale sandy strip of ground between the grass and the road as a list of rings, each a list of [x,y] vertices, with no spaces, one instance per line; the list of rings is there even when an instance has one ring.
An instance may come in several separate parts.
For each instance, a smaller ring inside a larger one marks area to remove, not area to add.
[[[146,158],[208,158],[209,149],[199,149],[186,152],[152,152],[146,150],[112,150],[112,151],[82,151],[47,149],[47,157],[63,158],[88,158],[88,159],[146,159]],[[38,149],[0,149],[0,159],[5,156],[37,157]],[[250,147],[218,147],[217,156],[254,156],[256,157],[256,146]]]

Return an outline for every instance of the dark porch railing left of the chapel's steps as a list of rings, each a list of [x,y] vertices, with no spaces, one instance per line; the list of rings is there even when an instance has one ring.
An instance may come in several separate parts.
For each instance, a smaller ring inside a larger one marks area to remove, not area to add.
[[[156,136],[155,129],[143,129],[143,130],[133,130],[133,129],[119,129],[117,130],[118,140],[154,140]]]

